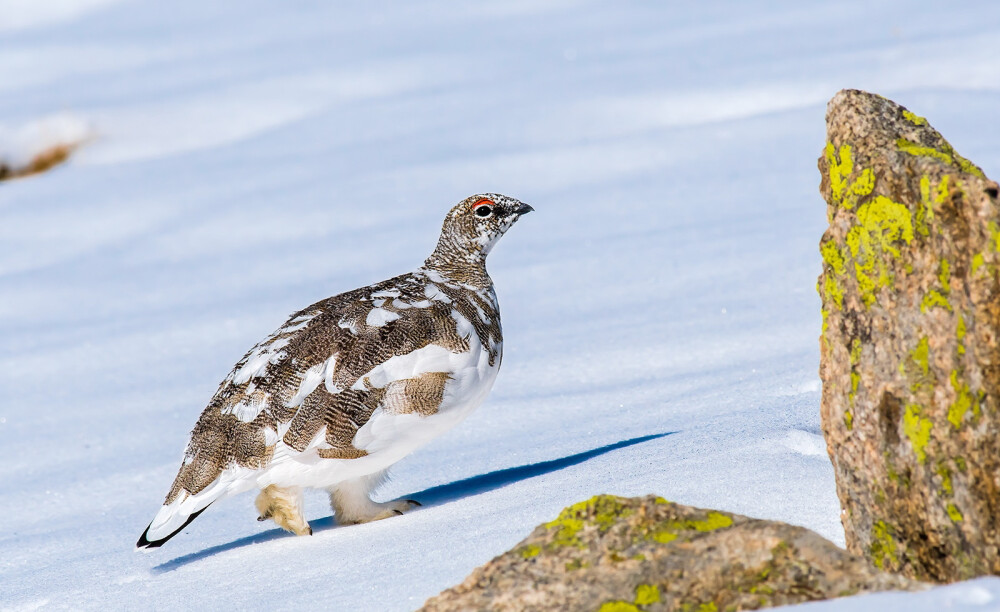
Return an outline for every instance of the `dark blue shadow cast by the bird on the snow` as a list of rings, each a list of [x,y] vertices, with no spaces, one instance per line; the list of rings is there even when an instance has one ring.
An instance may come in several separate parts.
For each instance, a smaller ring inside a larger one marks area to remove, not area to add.
[[[610,453],[614,450],[632,446],[634,444],[640,444],[642,442],[649,442],[650,440],[663,438],[674,433],[677,432],[668,431],[666,433],[630,438],[628,440],[622,440],[621,442],[615,442],[614,444],[608,444],[606,446],[594,448],[589,451],[583,451],[582,453],[576,453],[575,455],[569,455],[560,459],[552,459],[550,461],[542,461],[540,463],[529,463],[527,465],[519,465],[517,467],[505,468],[502,470],[487,472],[486,474],[480,474],[478,476],[463,478],[462,480],[456,480],[455,482],[449,482],[447,484],[424,489],[423,491],[418,491],[410,495],[404,495],[403,497],[416,499],[425,507],[438,506],[462,499],[463,497],[479,495],[480,493],[486,493],[487,491],[499,489],[521,480],[527,480],[529,478],[562,470],[570,466],[577,465],[578,463],[583,463],[589,459],[593,459],[594,457],[599,457],[605,453]],[[337,522],[332,516],[310,521],[309,524],[313,528],[313,533],[337,526]],[[233,540],[232,542],[228,542],[226,544],[219,544],[218,546],[212,546],[210,548],[206,548],[205,550],[182,555],[176,559],[171,559],[166,563],[161,563],[160,565],[153,567],[151,571],[154,574],[163,574],[165,572],[170,572],[184,567],[189,563],[212,557],[221,552],[226,552],[227,550],[243,548],[244,546],[251,546],[253,544],[261,544],[263,542],[269,542],[271,540],[285,537],[295,536],[292,536],[282,529],[270,529],[263,533]]]

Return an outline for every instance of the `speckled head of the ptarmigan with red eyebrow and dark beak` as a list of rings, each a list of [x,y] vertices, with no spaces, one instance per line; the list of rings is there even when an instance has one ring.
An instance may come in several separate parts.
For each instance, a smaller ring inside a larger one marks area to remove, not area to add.
[[[481,264],[493,246],[521,215],[534,210],[499,193],[480,193],[455,205],[444,218],[430,267]]]

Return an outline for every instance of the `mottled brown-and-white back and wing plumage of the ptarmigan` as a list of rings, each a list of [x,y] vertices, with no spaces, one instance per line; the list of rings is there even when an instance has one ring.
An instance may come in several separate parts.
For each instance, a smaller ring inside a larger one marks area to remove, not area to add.
[[[469,350],[469,339],[459,335],[453,311],[478,323],[484,307],[495,310],[485,302],[462,300],[458,291],[427,287],[425,278],[400,276],[293,314],[252,348],[219,386],[191,433],[184,464],[165,503],[182,490],[200,492],[228,467],[265,467],[279,439],[297,451],[316,445],[324,428],[320,456],[363,456],[352,444],[354,435],[386,394],[398,390],[356,383],[390,358],[429,344]],[[439,297],[430,299],[428,294]],[[480,338],[499,337],[499,329],[483,332]],[[427,384],[409,385],[410,395]],[[406,386],[402,392],[407,392]]]

